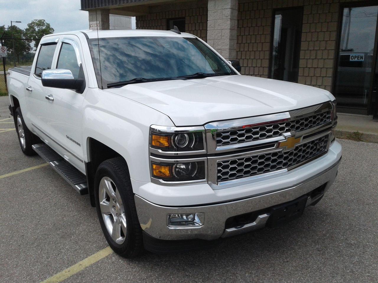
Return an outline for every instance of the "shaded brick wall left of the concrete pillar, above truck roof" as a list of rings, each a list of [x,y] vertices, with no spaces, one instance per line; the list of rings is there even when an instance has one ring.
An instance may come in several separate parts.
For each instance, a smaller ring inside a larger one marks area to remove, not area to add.
[[[136,28],[167,30],[167,19],[181,17],[185,17],[186,32],[206,41],[208,28],[207,0],[150,6],[149,14],[136,17]]]

